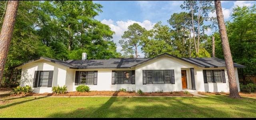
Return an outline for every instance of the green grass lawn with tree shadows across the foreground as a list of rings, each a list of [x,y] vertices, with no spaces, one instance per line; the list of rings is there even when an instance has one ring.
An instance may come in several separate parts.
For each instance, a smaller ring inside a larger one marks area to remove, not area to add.
[[[210,97],[0,98],[0,118],[255,118],[256,99]],[[4,102],[3,102],[4,101]]]

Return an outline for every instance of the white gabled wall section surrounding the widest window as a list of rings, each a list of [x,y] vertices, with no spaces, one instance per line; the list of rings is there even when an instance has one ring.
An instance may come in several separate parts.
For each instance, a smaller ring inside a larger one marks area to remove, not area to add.
[[[194,67],[191,64],[185,63],[175,58],[157,58],[146,62],[145,64],[136,66],[135,80],[136,89],[141,89],[143,92],[155,92],[157,90],[181,91],[181,68]],[[175,84],[143,84],[142,70],[174,70]],[[188,74],[188,72],[187,72]]]

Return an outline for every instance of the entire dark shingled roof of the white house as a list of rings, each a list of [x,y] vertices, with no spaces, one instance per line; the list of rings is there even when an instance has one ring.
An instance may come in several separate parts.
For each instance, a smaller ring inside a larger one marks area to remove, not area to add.
[[[170,54],[161,54],[167,55],[170,57],[178,58],[176,56],[172,56]],[[159,57],[156,56],[155,58]],[[67,66],[69,68],[130,68],[132,66],[136,66],[142,62],[146,62],[148,60],[152,60],[154,58],[110,58],[108,60],[67,60],[67,61],[60,61],[55,60],[51,58],[46,57],[40,57],[34,60],[31,60],[29,62],[33,62],[35,60],[44,59],[48,60],[50,62],[56,63],[56,64],[62,64],[64,66]],[[200,67],[226,67],[225,61],[220,58],[178,58],[180,60],[183,60],[185,62],[188,62],[190,64],[194,64]],[[22,66],[24,64],[27,64],[29,62],[20,64],[18,66]],[[18,67],[14,66],[14,67]],[[241,64],[234,63],[234,67],[237,68],[244,68],[245,66]]]

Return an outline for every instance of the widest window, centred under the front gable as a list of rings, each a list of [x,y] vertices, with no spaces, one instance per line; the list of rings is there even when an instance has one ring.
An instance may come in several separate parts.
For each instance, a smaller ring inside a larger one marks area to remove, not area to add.
[[[146,70],[147,84],[165,84],[170,80],[170,70]]]

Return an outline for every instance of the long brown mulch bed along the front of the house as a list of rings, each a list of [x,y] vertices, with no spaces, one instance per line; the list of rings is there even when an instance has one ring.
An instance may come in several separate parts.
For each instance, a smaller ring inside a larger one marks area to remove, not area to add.
[[[28,93],[28,94],[13,94],[11,96],[193,96],[193,94],[185,94],[183,91],[180,92],[144,92],[139,95],[138,93],[132,92],[117,92],[117,91],[90,91],[90,92],[67,92],[65,94],[55,93]]]

